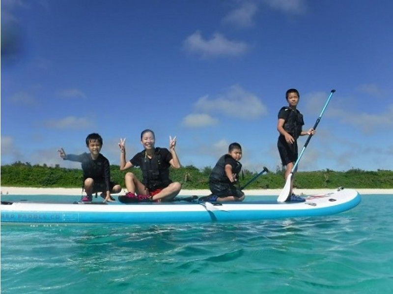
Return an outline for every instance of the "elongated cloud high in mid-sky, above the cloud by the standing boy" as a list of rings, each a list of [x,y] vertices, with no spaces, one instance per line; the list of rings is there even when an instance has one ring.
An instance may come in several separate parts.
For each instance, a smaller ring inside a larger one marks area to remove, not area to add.
[[[248,49],[244,42],[231,41],[220,33],[215,33],[210,40],[205,40],[199,31],[188,36],[184,41],[184,48],[200,55],[202,58],[220,56],[240,56]]]

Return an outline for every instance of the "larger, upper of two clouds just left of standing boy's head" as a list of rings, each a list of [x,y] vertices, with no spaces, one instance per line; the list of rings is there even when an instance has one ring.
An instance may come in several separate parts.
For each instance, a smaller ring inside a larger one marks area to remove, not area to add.
[[[265,105],[259,98],[240,86],[232,86],[216,99],[203,96],[195,103],[195,108],[204,112],[224,113],[234,118],[255,119],[267,114]]]

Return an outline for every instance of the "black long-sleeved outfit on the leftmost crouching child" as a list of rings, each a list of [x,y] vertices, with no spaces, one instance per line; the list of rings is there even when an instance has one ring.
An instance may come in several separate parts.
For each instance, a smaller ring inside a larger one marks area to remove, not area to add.
[[[106,191],[111,191],[109,160],[104,155],[100,153],[97,159],[93,160],[91,154],[85,152],[80,155],[67,154],[64,159],[81,162],[83,180],[91,177],[94,180],[94,185],[104,183]]]

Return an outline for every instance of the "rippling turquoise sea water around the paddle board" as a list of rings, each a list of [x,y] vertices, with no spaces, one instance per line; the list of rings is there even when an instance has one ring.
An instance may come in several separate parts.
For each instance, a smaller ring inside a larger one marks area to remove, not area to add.
[[[393,195],[362,195],[313,218],[1,225],[1,293],[391,293],[392,213]]]

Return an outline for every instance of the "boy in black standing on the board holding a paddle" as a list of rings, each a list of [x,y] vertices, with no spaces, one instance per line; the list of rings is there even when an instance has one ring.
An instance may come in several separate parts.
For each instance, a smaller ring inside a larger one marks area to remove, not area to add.
[[[277,130],[279,131],[280,136],[277,142],[277,147],[279,149],[282,165],[286,166],[286,180],[298,158],[297,139],[299,136],[306,136],[311,133],[314,134],[315,131],[312,128],[308,131],[302,130],[304,125],[303,115],[296,109],[300,98],[299,91],[297,89],[289,89],[286,91],[285,97],[288,101],[288,106],[282,107],[279,112]],[[305,199],[292,193],[293,178],[294,176],[291,178],[291,189],[286,201],[303,202]]]

